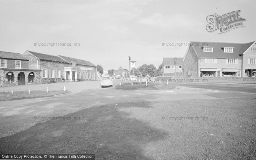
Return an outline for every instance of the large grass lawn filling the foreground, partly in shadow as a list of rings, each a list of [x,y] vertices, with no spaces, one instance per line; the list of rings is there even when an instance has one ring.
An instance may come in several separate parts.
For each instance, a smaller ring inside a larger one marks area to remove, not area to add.
[[[87,153],[102,160],[256,159],[255,107],[256,99],[236,98],[85,108],[1,138],[0,154]]]

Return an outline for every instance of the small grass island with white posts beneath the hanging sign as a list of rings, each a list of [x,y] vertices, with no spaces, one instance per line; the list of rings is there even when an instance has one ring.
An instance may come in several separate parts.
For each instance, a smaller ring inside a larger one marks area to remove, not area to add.
[[[161,83],[159,84],[158,82],[150,82],[147,83],[146,86],[146,82],[133,82],[133,85],[131,81],[125,81],[123,82],[121,85],[120,82],[116,81],[113,82],[116,89],[123,89],[123,90],[151,90],[151,89],[173,89],[174,84],[170,84],[167,85],[167,83]]]

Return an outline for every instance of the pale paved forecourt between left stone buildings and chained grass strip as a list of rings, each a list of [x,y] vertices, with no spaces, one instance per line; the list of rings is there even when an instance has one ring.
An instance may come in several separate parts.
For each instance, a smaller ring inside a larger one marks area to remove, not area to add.
[[[66,87],[67,91],[70,91],[71,94],[76,94],[84,92],[88,89],[99,89],[100,81],[80,81],[80,82],[59,82],[59,83],[49,83],[49,84],[31,84],[31,85],[15,85],[10,87],[0,87],[0,92],[8,92],[13,89],[13,91],[26,91],[27,89],[31,90],[42,90],[48,87],[50,90],[59,90]]]

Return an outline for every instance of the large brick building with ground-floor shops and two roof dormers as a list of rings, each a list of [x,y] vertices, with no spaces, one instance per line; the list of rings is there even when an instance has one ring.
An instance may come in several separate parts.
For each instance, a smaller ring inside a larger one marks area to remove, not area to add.
[[[183,58],[184,76],[256,76],[256,42],[190,42]]]

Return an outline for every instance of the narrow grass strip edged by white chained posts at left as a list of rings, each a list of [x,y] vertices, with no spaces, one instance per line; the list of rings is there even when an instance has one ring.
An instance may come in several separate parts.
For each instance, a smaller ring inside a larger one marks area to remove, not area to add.
[[[0,101],[17,100],[17,99],[30,99],[30,98],[42,98],[53,95],[65,94],[69,91],[26,91],[26,92],[0,92]]]

